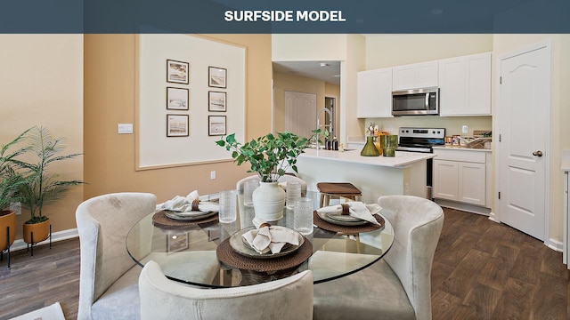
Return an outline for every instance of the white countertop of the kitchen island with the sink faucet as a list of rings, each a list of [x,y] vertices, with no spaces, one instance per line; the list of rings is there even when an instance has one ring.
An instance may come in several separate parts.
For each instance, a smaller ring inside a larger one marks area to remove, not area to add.
[[[395,156],[361,156],[361,150],[331,151],[317,150],[314,148],[305,149],[305,153],[299,157],[318,158],[324,160],[338,161],[353,164],[371,164],[385,167],[405,168],[409,164],[427,160],[436,156],[435,154],[396,151]]]

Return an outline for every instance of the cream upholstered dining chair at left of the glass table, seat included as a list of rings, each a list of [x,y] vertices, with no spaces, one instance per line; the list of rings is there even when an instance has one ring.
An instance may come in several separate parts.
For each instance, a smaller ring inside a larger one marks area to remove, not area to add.
[[[156,210],[156,200],[149,193],[115,193],[77,206],[81,250],[77,319],[139,318],[142,268],[126,252],[126,235]]]

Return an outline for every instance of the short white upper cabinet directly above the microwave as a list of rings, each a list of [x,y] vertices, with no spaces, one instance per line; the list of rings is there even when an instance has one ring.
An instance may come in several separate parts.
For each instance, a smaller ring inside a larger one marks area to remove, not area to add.
[[[394,91],[437,86],[437,60],[394,67]]]

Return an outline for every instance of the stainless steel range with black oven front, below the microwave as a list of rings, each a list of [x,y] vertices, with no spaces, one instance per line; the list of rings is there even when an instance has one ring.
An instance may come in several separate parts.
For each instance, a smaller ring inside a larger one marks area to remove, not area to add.
[[[397,151],[434,153],[434,146],[445,145],[444,128],[409,128],[402,127],[398,132]],[[433,161],[427,161],[426,197],[432,199]]]

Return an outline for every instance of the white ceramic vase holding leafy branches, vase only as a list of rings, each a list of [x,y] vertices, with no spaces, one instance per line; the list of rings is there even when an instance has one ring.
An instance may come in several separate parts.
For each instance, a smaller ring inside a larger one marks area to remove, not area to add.
[[[276,221],[283,218],[285,190],[277,184],[277,181],[259,182],[259,187],[253,191],[251,197],[256,218],[265,221]]]

